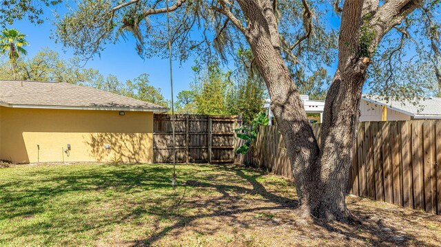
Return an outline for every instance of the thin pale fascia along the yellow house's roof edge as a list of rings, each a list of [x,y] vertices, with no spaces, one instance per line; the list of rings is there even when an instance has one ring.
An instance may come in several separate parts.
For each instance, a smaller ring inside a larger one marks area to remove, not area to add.
[[[30,109],[73,109],[73,110],[101,110],[101,111],[153,111],[158,113],[167,112],[168,108],[130,108],[130,107],[79,107],[64,105],[15,105],[0,102],[2,107],[30,108]]]

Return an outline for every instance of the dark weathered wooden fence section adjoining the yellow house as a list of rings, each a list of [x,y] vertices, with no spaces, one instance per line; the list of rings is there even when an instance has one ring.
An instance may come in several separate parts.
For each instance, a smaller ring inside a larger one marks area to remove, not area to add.
[[[234,162],[238,116],[174,116],[176,162]],[[154,114],[153,161],[173,162],[170,114]]]

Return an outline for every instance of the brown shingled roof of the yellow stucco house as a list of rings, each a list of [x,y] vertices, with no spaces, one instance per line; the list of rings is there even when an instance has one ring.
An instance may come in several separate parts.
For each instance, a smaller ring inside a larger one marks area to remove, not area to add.
[[[70,83],[0,80],[0,105],[45,109],[168,111],[167,107]]]

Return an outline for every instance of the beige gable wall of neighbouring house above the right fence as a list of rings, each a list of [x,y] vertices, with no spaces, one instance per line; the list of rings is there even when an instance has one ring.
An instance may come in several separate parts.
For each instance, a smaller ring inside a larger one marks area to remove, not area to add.
[[[361,114],[360,122],[381,121],[382,105],[376,105],[374,103],[370,103],[362,99],[360,101],[360,114]],[[387,120],[388,121],[411,120],[411,116],[387,108]]]

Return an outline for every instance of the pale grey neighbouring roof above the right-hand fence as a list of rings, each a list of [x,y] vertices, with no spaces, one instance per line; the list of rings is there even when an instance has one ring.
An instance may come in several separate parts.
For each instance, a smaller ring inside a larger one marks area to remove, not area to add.
[[[384,100],[376,95],[363,95],[363,100],[418,118],[441,118],[441,98],[431,97],[421,100]]]

